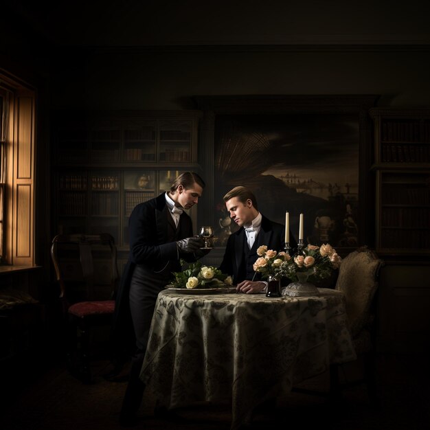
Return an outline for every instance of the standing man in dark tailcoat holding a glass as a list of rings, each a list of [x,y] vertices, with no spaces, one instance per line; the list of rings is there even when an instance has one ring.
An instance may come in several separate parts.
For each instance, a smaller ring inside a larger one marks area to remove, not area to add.
[[[122,425],[133,425],[142,403],[145,386],[139,376],[158,293],[170,282],[172,272],[181,271],[181,258],[194,262],[207,253],[201,251],[203,239],[193,236],[191,218],[183,212],[198,203],[203,188],[205,183],[198,174],[185,172],[168,192],[140,203],[131,213],[130,256],[113,322],[115,343],[133,339],[136,347],[120,413]]]

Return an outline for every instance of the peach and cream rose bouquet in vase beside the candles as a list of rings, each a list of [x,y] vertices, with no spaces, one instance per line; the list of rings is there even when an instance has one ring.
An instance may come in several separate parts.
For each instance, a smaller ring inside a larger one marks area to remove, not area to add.
[[[299,280],[297,273],[304,273],[314,280],[328,278],[332,271],[339,268],[341,258],[331,245],[321,247],[308,245],[301,254],[291,257],[283,251],[277,252],[267,249],[266,245],[257,249],[258,258],[253,269],[262,273],[262,277],[275,279],[288,278]]]

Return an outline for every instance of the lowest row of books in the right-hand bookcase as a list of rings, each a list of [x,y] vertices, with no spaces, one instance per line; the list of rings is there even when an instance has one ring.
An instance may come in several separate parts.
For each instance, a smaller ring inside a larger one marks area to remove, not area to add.
[[[430,230],[426,234],[420,229],[382,229],[381,247],[402,249],[430,249]]]

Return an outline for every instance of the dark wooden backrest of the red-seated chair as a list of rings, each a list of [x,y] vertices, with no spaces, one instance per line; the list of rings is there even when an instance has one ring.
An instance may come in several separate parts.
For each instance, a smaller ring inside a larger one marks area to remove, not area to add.
[[[76,302],[112,299],[118,280],[117,248],[110,234],[57,235],[51,256],[67,306]]]

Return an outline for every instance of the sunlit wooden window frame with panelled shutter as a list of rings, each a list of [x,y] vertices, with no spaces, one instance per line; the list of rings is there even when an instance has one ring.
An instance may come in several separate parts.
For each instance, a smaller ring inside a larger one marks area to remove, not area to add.
[[[0,89],[4,141],[0,264],[34,267],[36,91],[3,70]]]

